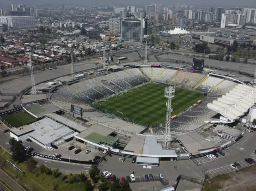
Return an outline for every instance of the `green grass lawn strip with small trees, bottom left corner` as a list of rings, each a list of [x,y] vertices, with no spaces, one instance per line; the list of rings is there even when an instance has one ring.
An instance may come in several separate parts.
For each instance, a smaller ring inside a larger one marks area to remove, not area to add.
[[[82,191],[84,190],[83,183],[79,184],[79,182],[75,183],[64,183],[59,177],[54,178],[53,175],[40,174],[36,177],[35,174],[29,173],[26,169],[25,163],[16,164],[19,168],[25,171],[24,175],[21,175],[20,171],[15,170],[12,165],[6,163],[6,159],[11,161],[11,156],[6,153],[3,154],[3,149],[0,148],[0,162],[4,164],[4,168],[8,170],[9,174],[17,175],[18,179],[22,178],[22,181],[26,183],[30,188],[34,188],[34,191],[51,191],[53,190],[53,183],[58,184],[57,190],[74,190],[74,191]],[[68,175],[69,176],[69,175]],[[19,184],[22,186],[21,182]],[[26,188],[23,186],[23,188]],[[25,189],[27,190],[27,189]]]

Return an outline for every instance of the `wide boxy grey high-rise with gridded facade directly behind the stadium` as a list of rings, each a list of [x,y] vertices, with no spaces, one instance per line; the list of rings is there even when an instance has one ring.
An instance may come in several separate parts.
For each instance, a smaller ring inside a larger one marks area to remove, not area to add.
[[[121,21],[121,39],[124,41],[142,42],[145,28],[144,18],[125,19]]]

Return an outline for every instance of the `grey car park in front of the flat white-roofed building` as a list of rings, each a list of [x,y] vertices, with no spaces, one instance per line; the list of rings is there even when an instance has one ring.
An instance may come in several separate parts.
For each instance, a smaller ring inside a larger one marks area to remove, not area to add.
[[[69,147],[71,146],[74,146],[75,148],[72,150],[69,150]],[[81,149],[82,151],[79,152],[78,154],[75,154],[75,150],[77,149]],[[89,154],[84,153],[86,150],[90,150]],[[62,158],[69,158],[71,160],[77,160],[77,161],[89,161],[89,160],[93,160],[95,156],[100,156],[100,157],[103,156],[102,151],[90,148],[81,142],[74,142],[74,141],[60,144],[58,145],[58,149],[54,149],[54,150],[44,149],[39,153],[44,155],[49,155],[49,156],[52,156],[53,154],[60,154],[62,155]]]

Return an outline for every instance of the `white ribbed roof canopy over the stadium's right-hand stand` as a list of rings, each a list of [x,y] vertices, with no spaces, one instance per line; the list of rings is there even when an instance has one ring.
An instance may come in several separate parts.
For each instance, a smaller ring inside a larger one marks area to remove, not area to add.
[[[254,105],[253,87],[237,84],[221,98],[207,104],[208,109],[220,113],[231,121],[239,119]]]

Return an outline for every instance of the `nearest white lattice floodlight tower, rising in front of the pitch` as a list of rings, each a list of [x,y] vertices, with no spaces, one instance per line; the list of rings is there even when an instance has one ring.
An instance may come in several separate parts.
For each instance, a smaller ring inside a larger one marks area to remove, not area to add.
[[[172,113],[172,98],[174,97],[175,86],[164,88],[164,97],[168,98],[166,111],[166,129],[164,131],[163,149],[170,149],[170,114]]]

